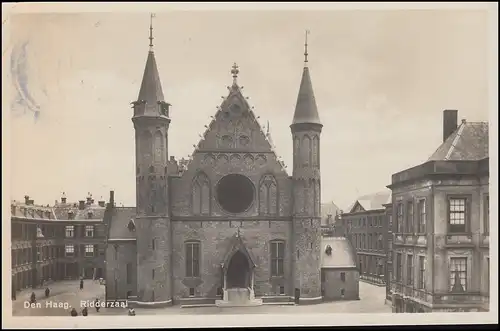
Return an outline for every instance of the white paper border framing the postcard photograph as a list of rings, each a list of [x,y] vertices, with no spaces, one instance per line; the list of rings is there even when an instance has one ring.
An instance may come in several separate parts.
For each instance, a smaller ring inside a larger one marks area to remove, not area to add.
[[[492,51],[488,59],[488,71],[490,73],[490,196],[495,199],[498,194],[498,160],[497,160],[497,116],[496,109],[498,107],[498,4],[485,3],[485,2],[358,2],[358,3],[317,3],[317,2],[302,2],[302,3],[2,3],[2,44],[8,43],[8,34],[4,31],[9,28],[9,15],[17,13],[48,13],[48,12],[143,12],[149,13],[164,12],[167,10],[332,10],[332,9],[363,9],[363,10],[390,10],[390,9],[475,9],[475,10],[490,10],[490,40],[492,42]],[[2,46],[2,48],[4,48]],[[2,61],[5,61],[2,58]],[[6,79],[2,75],[2,83]],[[5,86],[6,84],[2,84]],[[2,100],[7,100],[8,91],[2,88]],[[8,102],[8,101],[7,101]],[[5,101],[2,103],[5,107]],[[9,137],[9,116],[5,116],[8,112],[2,112],[2,134],[3,137]],[[9,174],[9,139],[2,139],[2,196],[9,197],[10,176]],[[3,220],[9,219],[9,199],[2,200]],[[491,210],[491,219],[495,220],[498,217],[497,206],[494,205]],[[498,252],[497,240],[497,223],[491,224],[490,235],[490,251],[492,256]],[[3,232],[3,268],[10,266],[10,222],[2,222]],[[492,275],[498,273],[497,259],[493,258],[494,264],[491,270]],[[2,288],[4,293],[9,293],[10,275],[9,273],[2,273],[4,281]],[[492,277],[492,280],[494,277]],[[489,313],[435,313],[435,314],[287,314],[287,315],[161,315],[161,316],[135,316],[133,318],[113,318],[111,316],[87,317],[85,319],[70,319],[67,317],[44,317],[44,318],[26,318],[26,317],[12,317],[12,309],[3,309],[3,326],[5,327],[30,327],[30,328],[43,328],[43,327],[64,327],[64,328],[133,328],[133,327],[213,327],[213,326],[298,326],[298,325],[386,325],[386,324],[399,324],[399,325],[422,325],[422,324],[473,324],[473,323],[498,323],[498,283],[491,282],[491,297],[490,297],[490,312]],[[3,295],[3,306],[11,307],[12,302],[10,295]],[[354,317],[354,318],[353,318]]]

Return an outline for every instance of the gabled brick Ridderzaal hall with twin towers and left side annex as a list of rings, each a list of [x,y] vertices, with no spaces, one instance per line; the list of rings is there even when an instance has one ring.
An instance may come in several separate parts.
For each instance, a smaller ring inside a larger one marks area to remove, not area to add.
[[[249,301],[299,293],[301,303],[322,300],[322,124],[307,51],[290,125],[292,176],[243,96],[236,64],[231,73],[228,95],[181,166],[168,156],[173,119],[150,45],[133,102],[136,213],[111,220],[108,298],[147,307],[213,303],[242,289]]]

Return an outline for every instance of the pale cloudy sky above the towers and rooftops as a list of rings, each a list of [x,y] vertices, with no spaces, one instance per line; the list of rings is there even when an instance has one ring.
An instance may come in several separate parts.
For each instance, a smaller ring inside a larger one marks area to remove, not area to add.
[[[11,195],[53,204],[91,192],[135,205],[137,99],[149,14],[10,18]],[[442,142],[442,111],[488,120],[485,11],[170,11],[153,19],[169,155],[187,157],[239,65],[260,123],[292,172],[291,124],[310,30],[309,67],[324,125],[322,200],[346,208]],[[3,50],[4,52],[4,50]],[[4,106],[5,109],[5,106]]]

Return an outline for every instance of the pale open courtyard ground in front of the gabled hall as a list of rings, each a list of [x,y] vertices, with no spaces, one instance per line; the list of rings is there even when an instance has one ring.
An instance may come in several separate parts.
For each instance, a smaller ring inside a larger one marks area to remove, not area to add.
[[[32,290],[18,293],[17,300],[13,302],[14,316],[69,316],[71,308],[47,307],[46,303],[68,303],[80,313],[81,301],[92,301],[95,298],[104,299],[104,286],[98,282],[87,280],[83,290],[79,289],[78,281],[59,282],[49,286],[51,295],[45,299],[44,289],[35,290],[37,302],[41,308],[25,308],[24,302],[29,301]],[[179,306],[162,309],[136,309],[137,315],[200,315],[200,314],[297,314],[297,313],[390,313],[389,305],[384,304],[385,288],[360,282],[360,298],[356,301],[337,301],[318,305],[290,306],[290,305],[263,305],[248,308],[218,308],[198,307],[180,308]],[[102,308],[99,313],[89,309],[89,316],[95,315],[126,315],[126,309]]]

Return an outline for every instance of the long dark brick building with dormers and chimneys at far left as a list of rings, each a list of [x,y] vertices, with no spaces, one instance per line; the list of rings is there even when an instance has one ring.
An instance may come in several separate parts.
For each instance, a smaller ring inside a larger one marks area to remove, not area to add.
[[[12,289],[48,281],[104,275],[105,202],[91,196],[66,197],[54,206],[35,205],[29,196],[11,203]]]

